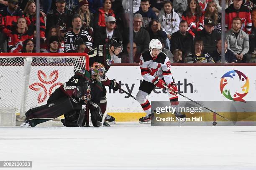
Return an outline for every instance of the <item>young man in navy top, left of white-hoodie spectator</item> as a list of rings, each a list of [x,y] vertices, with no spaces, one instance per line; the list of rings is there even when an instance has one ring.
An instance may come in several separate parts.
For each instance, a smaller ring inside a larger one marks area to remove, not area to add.
[[[156,14],[150,8],[150,0],[141,0],[140,10],[136,14],[141,14],[143,17],[142,28],[148,28],[151,20],[156,20]]]

